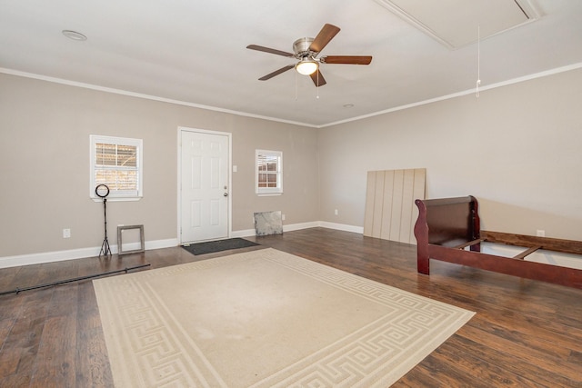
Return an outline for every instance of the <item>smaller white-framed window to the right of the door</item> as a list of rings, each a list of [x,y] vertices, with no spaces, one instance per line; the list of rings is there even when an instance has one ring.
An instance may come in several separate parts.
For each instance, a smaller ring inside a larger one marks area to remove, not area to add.
[[[283,193],[283,153],[256,150],[256,194]]]

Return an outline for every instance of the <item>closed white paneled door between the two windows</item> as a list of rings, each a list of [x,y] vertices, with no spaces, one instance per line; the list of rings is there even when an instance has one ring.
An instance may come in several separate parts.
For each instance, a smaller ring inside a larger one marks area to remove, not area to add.
[[[229,234],[228,134],[180,130],[180,243]]]

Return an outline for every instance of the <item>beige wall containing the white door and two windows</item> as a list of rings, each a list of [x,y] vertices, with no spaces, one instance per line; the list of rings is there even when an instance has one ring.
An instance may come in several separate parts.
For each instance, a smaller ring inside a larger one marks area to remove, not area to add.
[[[317,220],[316,129],[0,74],[0,258],[100,247],[103,205],[89,199],[89,134],[144,140],[144,193],[108,202],[117,224],[144,224],[146,241],[177,239],[178,126],[232,133],[232,229],[281,210]],[[283,151],[285,194],[255,194],[255,149]],[[64,239],[62,230],[71,229]]]

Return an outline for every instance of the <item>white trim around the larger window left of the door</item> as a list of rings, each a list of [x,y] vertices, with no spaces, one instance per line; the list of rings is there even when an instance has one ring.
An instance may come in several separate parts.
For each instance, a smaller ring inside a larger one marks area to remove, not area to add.
[[[117,145],[131,145],[136,147],[136,170],[137,170],[137,194],[115,194],[115,191],[107,196],[108,201],[139,201],[144,197],[144,141],[142,139],[134,139],[119,136],[104,136],[100,134],[89,135],[89,198],[95,202],[101,202],[103,199],[95,194],[95,144],[117,144]]]

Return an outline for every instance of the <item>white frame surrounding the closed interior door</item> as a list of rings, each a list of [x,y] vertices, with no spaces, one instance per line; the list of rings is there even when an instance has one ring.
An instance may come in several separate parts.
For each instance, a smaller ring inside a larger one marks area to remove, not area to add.
[[[183,132],[193,132],[196,134],[214,134],[214,135],[223,135],[226,136],[228,139],[228,160],[226,161],[226,174],[227,181],[228,181],[228,201],[226,204],[226,233],[227,238],[230,238],[232,235],[232,157],[233,157],[233,142],[232,137],[233,134],[230,132],[220,132],[220,131],[209,131],[206,129],[198,129],[198,128],[189,128],[186,126],[178,126],[177,129],[177,241],[178,245],[182,245],[182,234],[180,233],[182,228],[182,133]]]

